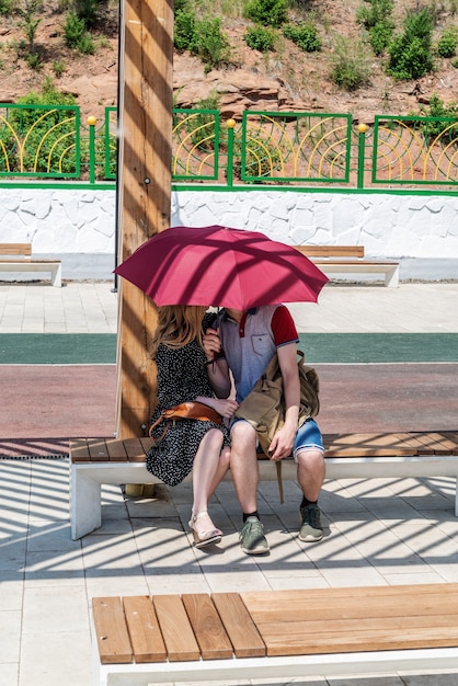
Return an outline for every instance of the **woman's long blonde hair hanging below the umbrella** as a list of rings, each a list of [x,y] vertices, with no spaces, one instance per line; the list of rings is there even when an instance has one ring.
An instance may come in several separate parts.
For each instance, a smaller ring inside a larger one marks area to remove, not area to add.
[[[194,339],[202,345],[202,321],[207,308],[197,305],[164,305],[158,308],[158,325],[151,341],[154,359],[160,343],[184,347]]]

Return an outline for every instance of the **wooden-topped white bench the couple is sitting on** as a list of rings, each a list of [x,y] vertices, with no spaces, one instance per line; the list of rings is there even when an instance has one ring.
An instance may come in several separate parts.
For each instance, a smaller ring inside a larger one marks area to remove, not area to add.
[[[458,432],[324,434],[328,479],[458,477]],[[146,469],[150,438],[79,438],[69,443],[70,524],[73,540],[102,525],[101,485],[161,483]],[[260,479],[277,479],[275,464],[260,458]],[[283,479],[296,480],[293,459]],[[230,473],[226,477],[230,479]],[[191,479],[191,476],[190,476]],[[458,487],[455,495],[458,516]]]

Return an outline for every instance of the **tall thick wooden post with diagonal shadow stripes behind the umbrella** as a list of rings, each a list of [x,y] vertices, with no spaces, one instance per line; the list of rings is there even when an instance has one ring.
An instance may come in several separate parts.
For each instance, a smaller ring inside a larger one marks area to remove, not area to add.
[[[122,0],[123,2],[123,0]],[[119,49],[119,263],[170,226],[173,0],[125,0]],[[123,11],[122,11],[123,13]],[[156,398],[152,300],[119,278],[116,435],[141,436]]]

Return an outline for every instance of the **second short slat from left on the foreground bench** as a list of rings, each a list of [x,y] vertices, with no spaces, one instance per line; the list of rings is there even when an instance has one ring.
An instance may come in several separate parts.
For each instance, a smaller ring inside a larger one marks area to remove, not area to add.
[[[150,598],[147,595],[125,597],[123,606],[135,661],[165,662],[165,644]]]

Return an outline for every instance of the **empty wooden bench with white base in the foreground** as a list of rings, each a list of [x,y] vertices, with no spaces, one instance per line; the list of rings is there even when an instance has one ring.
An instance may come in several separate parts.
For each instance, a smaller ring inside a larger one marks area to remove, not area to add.
[[[95,597],[93,686],[457,670],[458,584]]]

